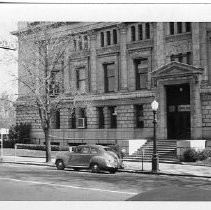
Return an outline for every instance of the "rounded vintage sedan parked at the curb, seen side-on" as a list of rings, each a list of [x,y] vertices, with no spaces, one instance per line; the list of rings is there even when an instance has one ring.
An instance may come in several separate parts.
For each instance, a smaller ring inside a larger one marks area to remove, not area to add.
[[[100,170],[115,173],[118,170],[118,157],[100,145],[80,145],[73,151],[57,153],[55,164],[58,170],[70,167],[74,170],[91,169],[93,173]]]

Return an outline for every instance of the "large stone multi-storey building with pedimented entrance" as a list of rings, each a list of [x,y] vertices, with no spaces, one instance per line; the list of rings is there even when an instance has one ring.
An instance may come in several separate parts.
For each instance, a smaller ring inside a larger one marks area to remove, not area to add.
[[[60,77],[64,91],[85,88],[94,96],[92,113],[80,109],[71,116],[66,108],[57,112],[51,131],[54,144],[127,147],[123,140],[152,139],[154,98],[159,102],[158,139],[210,139],[211,23],[32,24],[47,24],[49,30],[74,37],[64,59],[68,68]],[[27,26],[14,34],[23,30]],[[43,142],[39,124],[17,106],[20,121],[32,123],[32,138]]]

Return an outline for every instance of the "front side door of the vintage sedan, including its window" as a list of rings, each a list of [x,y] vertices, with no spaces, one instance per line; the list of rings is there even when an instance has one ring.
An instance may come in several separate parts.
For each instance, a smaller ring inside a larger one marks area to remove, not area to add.
[[[74,153],[70,160],[70,166],[89,167],[90,161],[90,148],[88,146],[80,147]]]

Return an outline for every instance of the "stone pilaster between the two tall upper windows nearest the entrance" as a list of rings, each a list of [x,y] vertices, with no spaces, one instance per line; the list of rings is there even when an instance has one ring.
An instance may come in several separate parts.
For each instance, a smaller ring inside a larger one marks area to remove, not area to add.
[[[127,26],[120,24],[120,89],[127,90]]]

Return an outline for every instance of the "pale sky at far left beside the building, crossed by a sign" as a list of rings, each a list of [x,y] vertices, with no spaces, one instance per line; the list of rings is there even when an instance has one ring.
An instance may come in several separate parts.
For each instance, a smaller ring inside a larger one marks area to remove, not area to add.
[[[17,30],[17,22],[0,21],[0,40],[15,42],[16,37],[10,32]],[[11,54],[12,53],[12,54]],[[7,91],[9,94],[15,95],[18,92],[17,80],[12,75],[17,75],[18,64],[13,59],[16,52],[8,51],[0,48],[0,94]],[[8,60],[8,57],[11,59]]]

